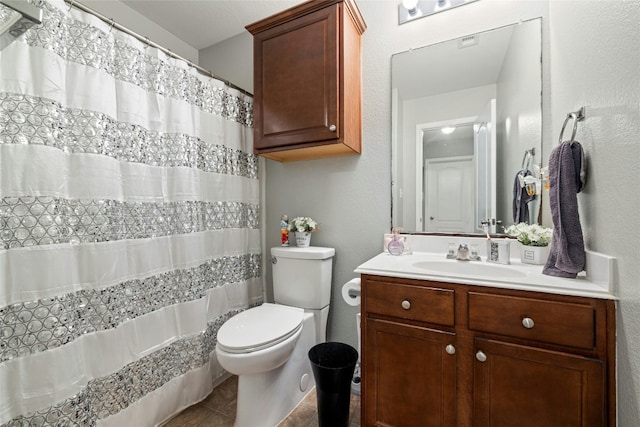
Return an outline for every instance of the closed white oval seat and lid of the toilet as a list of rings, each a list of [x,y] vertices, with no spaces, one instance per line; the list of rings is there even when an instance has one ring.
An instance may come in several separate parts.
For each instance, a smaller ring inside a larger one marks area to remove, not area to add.
[[[218,347],[227,353],[251,353],[278,344],[302,328],[304,310],[264,303],[227,320],[218,330]]]

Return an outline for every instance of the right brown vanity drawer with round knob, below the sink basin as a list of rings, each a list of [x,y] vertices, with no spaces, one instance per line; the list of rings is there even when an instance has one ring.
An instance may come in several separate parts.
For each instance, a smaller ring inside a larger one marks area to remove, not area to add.
[[[469,292],[469,329],[592,349],[595,347],[595,307]]]

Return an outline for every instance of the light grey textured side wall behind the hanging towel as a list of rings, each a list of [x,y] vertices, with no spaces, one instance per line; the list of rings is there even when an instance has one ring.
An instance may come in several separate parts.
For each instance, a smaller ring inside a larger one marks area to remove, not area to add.
[[[586,106],[576,139],[589,181],[578,197],[590,249],[617,257],[618,425],[640,424],[640,2],[550,2],[550,128]],[[566,136],[566,135],[565,135]],[[547,150],[546,153],[549,151]]]

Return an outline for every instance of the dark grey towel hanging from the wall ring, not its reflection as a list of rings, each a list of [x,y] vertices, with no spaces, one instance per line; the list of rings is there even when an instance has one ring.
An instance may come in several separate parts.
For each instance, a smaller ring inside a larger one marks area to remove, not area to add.
[[[584,270],[585,252],[578,213],[578,196],[586,182],[582,146],[563,142],[549,156],[549,206],[553,237],[542,273],[575,278]]]

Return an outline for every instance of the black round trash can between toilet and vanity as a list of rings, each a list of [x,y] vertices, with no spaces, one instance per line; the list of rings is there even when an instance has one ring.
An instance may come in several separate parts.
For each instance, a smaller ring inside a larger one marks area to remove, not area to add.
[[[351,379],[358,351],[348,344],[325,342],[309,350],[316,380],[320,427],[348,427]]]

